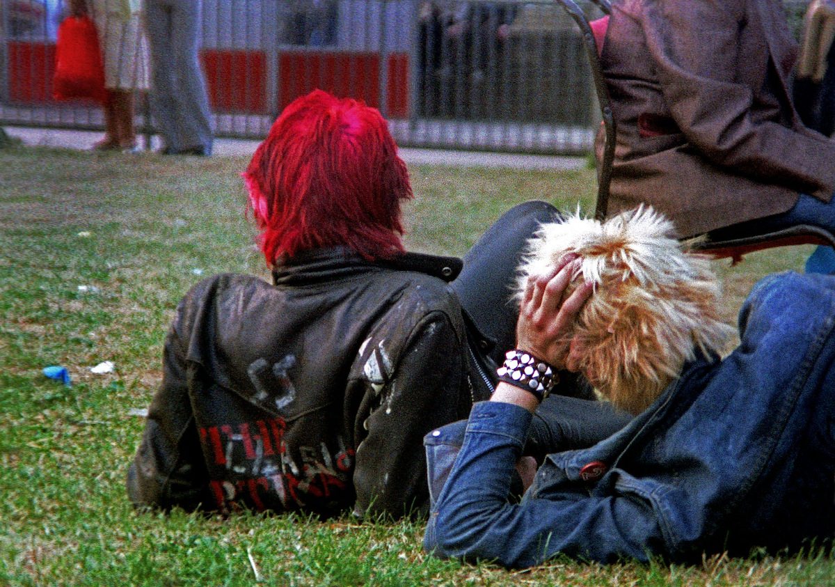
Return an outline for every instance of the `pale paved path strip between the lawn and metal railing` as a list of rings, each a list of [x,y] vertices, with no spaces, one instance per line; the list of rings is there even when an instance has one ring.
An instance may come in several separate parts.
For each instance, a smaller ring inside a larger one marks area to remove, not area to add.
[[[26,126],[5,126],[8,135],[18,137],[26,145],[55,146],[88,150],[102,136],[100,131],[56,130]],[[216,139],[215,156],[251,156],[257,140]],[[154,137],[152,145],[157,146]],[[477,151],[439,151],[404,147],[400,156],[407,165],[450,165],[464,167],[509,167],[514,169],[566,170],[580,169],[584,157],[485,153]]]

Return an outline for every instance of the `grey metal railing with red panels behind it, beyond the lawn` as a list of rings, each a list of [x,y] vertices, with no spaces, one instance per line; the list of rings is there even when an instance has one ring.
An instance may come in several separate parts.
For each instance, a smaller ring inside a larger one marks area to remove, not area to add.
[[[0,125],[102,127],[52,97],[65,5],[0,0]],[[401,145],[578,153],[598,122],[582,39],[548,0],[203,0],[200,47],[219,136],[260,139],[315,88],[379,108]]]

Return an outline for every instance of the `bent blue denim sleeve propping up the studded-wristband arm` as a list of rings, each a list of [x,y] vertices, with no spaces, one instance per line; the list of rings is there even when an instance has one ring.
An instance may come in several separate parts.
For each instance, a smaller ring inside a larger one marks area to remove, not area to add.
[[[473,406],[461,451],[430,513],[424,549],[508,567],[539,564],[560,552],[595,560],[647,559],[647,546],[660,540],[660,530],[643,500],[578,492],[509,503],[514,463],[530,421],[519,406]],[[428,452],[435,446],[443,450],[443,429],[439,432]]]

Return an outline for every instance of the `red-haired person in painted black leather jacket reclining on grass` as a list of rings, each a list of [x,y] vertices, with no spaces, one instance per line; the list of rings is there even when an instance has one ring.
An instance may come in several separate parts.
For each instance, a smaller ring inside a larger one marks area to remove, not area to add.
[[[244,179],[272,283],[217,275],[180,303],[130,499],[425,513],[423,436],[492,392],[515,269],[556,210],[513,208],[463,262],[406,253],[412,188],[386,121],[321,91],[286,107]]]

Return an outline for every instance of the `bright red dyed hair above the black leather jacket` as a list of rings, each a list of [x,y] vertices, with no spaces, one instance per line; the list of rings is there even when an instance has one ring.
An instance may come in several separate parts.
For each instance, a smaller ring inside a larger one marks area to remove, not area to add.
[[[344,246],[402,253],[406,165],[377,110],[316,90],[288,105],[244,173],[267,263]]]

